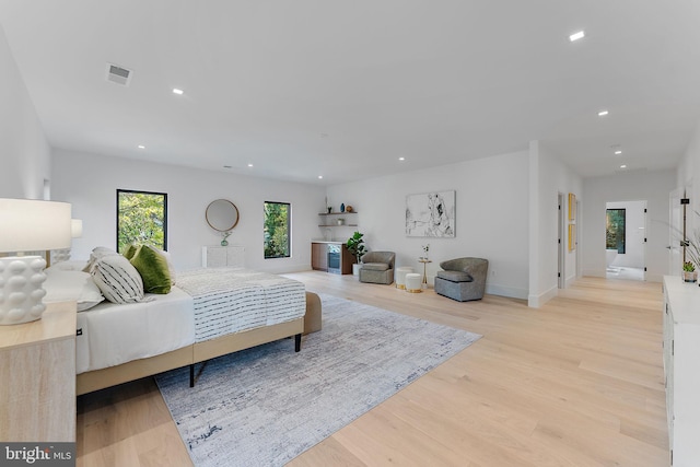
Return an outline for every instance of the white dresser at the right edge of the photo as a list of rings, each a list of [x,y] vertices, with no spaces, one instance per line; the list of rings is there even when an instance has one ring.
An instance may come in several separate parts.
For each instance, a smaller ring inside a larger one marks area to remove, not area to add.
[[[670,460],[700,465],[700,287],[664,277],[664,372]]]

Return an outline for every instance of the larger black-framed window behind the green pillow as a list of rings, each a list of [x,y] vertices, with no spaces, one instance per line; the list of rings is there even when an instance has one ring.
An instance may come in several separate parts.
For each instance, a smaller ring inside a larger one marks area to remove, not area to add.
[[[131,244],[167,249],[167,195],[117,190],[117,252]]]

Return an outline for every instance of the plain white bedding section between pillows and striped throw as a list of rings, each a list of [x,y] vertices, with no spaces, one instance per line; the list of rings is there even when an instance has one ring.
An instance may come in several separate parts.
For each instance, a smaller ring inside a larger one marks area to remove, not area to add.
[[[192,297],[177,287],[142,303],[102,303],[78,314],[77,373],[170,352],[195,340]],[[82,332],[82,335],[81,335]]]

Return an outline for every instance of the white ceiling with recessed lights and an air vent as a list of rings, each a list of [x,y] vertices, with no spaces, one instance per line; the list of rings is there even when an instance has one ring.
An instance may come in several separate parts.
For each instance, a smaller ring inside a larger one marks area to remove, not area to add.
[[[0,0],[0,24],[52,147],[280,179],[530,140],[582,176],[670,168],[700,118],[698,0]]]

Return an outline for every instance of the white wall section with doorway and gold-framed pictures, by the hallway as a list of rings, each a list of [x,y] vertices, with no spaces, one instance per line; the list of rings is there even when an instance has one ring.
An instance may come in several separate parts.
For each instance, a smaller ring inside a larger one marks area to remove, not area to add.
[[[529,244],[529,295],[530,306],[540,306],[557,295],[559,272],[559,195],[570,192],[576,196],[580,203],[584,202],[581,177],[562,163],[548,148],[538,141],[530,142],[530,244]],[[569,219],[568,203],[562,206],[563,215]],[[583,223],[581,215],[576,215],[575,223],[580,227]],[[569,221],[567,221],[567,225]],[[568,245],[568,229],[562,233],[561,242]],[[578,250],[583,247],[579,242]],[[567,282],[576,277],[576,250],[564,254],[564,270],[562,273]]]

